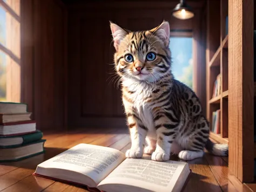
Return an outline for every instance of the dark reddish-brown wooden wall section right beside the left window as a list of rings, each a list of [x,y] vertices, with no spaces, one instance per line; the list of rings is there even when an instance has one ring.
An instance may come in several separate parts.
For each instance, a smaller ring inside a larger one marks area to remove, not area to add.
[[[65,126],[66,13],[57,0],[21,0],[21,101],[43,130]]]

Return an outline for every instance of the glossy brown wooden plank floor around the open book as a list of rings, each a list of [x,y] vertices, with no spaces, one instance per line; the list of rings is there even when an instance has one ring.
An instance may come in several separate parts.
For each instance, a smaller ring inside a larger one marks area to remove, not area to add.
[[[44,132],[45,154],[19,162],[0,163],[0,191],[87,191],[83,187],[55,182],[33,176],[37,164],[53,157],[79,143],[116,148],[125,152],[130,148],[130,138],[126,129],[79,129],[66,133]],[[172,157],[178,160],[177,157]],[[192,174],[185,191],[253,191],[246,184],[228,179],[227,157],[205,154],[203,158],[188,161]]]

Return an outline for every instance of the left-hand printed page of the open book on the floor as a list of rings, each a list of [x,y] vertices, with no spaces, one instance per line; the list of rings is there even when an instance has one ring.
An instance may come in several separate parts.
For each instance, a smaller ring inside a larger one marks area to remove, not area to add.
[[[71,170],[89,176],[98,184],[124,159],[125,154],[117,149],[82,143],[39,164],[38,172],[40,167]]]

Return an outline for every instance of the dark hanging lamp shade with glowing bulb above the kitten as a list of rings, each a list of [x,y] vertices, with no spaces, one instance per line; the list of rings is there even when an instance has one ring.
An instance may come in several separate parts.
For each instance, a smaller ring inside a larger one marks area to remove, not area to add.
[[[188,6],[185,0],[180,0],[180,3],[172,11],[172,15],[178,19],[190,19],[194,17],[193,9]]]

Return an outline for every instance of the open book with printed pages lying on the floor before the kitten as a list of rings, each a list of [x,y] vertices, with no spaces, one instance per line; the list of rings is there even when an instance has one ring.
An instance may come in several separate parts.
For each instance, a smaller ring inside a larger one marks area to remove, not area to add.
[[[89,144],[79,144],[38,164],[34,173],[108,192],[180,191],[189,174],[186,162],[126,159],[117,149]]]

